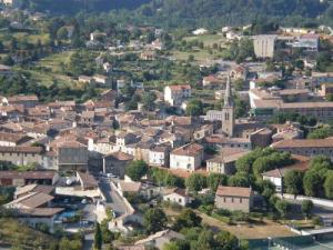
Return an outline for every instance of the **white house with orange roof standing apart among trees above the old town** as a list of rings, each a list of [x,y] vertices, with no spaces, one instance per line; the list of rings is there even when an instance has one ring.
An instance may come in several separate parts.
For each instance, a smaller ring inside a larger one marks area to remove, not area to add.
[[[191,97],[191,86],[167,86],[164,88],[164,101],[170,106],[180,107],[182,102]]]

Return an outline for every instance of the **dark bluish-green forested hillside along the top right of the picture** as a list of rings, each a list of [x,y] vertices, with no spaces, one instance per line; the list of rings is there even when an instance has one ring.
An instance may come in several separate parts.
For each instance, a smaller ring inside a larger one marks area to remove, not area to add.
[[[249,23],[259,17],[287,23],[312,22],[329,6],[319,0],[153,0],[140,11],[170,27],[221,27]]]

